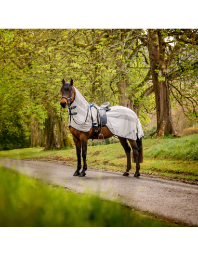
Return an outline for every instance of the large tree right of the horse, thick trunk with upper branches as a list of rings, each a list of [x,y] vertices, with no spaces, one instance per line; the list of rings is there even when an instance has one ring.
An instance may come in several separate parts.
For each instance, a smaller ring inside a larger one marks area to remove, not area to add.
[[[191,29],[148,29],[147,34],[139,36],[144,46],[148,47],[150,58],[157,112],[155,136],[171,133],[172,136],[179,137],[171,114],[169,82],[181,74],[178,72],[178,65],[181,67],[180,71],[187,68],[187,62],[180,56],[186,50],[185,46],[193,43],[190,40],[195,41],[195,35],[196,31]]]

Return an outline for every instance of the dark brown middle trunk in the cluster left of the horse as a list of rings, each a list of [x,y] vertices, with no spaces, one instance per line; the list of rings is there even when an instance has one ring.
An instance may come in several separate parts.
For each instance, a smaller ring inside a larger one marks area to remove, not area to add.
[[[50,116],[45,120],[45,148],[44,150],[58,149],[57,139],[55,134],[55,121]]]

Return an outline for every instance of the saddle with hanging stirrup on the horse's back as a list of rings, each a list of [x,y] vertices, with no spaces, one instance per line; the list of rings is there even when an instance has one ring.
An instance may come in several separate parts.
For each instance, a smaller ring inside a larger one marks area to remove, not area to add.
[[[89,139],[94,140],[99,132],[100,135],[102,135],[102,139],[100,139],[100,135],[99,135],[99,139],[102,142],[104,141],[104,136],[102,134],[102,126],[105,126],[107,124],[107,112],[111,110],[111,108],[109,107],[110,103],[109,102],[105,102],[103,103],[100,107],[98,105],[96,105],[95,103],[92,103],[93,107],[97,109],[98,112],[98,123],[99,126],[101,127],[100,131],[98,130],[99,126],[97,127],[97,129],[95,129],[94,133],[91,135],[91,137]]]

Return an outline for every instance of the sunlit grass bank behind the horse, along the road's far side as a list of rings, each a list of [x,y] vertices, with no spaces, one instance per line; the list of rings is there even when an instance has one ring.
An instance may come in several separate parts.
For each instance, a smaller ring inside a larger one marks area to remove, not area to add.
[[[144,162],[141,173],[169,175],[198,180],[198,134],[183,138],[143,139]],[[59,160],[77,164],[76,150],[43,151],[42,148],[1,151],[0,158]],[[89,167],[125,171],[126,155],[120,143],[88,147]],[[132,172],[135,172],[133,164]]]

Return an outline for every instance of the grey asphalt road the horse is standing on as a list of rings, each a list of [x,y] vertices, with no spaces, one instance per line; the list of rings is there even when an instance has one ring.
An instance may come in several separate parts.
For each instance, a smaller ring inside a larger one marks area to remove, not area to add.
[[[2,160],[2,165],[77,193],[99,190],[103,198],[118,198],[142,211],[198,226],[198,186],[100,170],[87,170],[84,178],[73,177],[74,167],[39,161]]]

